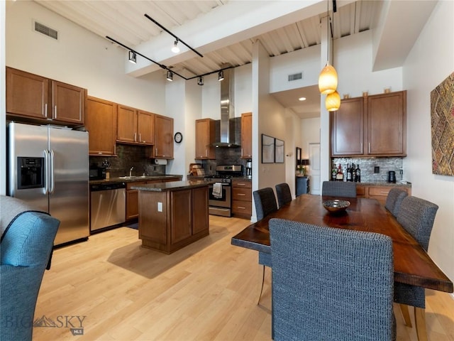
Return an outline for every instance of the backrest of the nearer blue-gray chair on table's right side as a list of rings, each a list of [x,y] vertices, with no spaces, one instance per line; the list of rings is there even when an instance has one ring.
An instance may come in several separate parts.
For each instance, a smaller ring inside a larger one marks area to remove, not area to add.
[[[438,205],[433,202],[419,197],[408,196],[402,200],[397,214],[397,221],[426,251],[437,210]]]

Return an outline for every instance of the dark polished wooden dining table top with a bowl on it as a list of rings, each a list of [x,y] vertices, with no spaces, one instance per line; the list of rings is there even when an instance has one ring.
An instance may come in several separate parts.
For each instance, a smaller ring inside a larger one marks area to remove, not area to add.
[[[323,200],[333,197],[300,195],[264,219],[251,224],[232,237],[231,243],[239,247],[271,252],[268,221],[272,218],[294,220],[339,229],[377,232],[392,238],[394,251],[394,281],[453,292],[453,282],[432,261],[426,251],[411,237],[383,205],[365,197],[342,198],[350,206],[341,215],[331,215],[323,207]]]

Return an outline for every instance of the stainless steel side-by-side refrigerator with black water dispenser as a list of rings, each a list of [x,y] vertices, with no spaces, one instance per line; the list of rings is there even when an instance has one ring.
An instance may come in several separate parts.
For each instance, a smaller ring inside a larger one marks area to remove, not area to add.
[[[9,195],[60,220],[55,245],[89,236],[87,131],[9,124]]]

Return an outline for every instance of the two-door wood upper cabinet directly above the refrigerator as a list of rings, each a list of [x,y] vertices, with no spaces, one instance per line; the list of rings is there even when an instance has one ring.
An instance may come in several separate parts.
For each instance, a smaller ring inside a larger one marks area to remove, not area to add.
[[[87,90],[6,67],[6,112],[11,116],[84,124]]]

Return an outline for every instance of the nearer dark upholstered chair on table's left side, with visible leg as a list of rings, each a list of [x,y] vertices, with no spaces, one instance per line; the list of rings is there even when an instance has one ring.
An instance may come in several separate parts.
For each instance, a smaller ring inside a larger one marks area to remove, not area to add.
[[[262,188],[253,192],[255,212],[257,220],[262,220],[264,217],[272,212],[277,211],[276,197],[272,188]],[[262,271],[262,287],[260,288],[260,295],[258,296],[258,303],[262,297],[263,283],[265,282],[265,266],[271,267],[271,254],[266,252],[258,252],[258,264],[263,266]],[[258,304],[257,303],[257,304]]]

